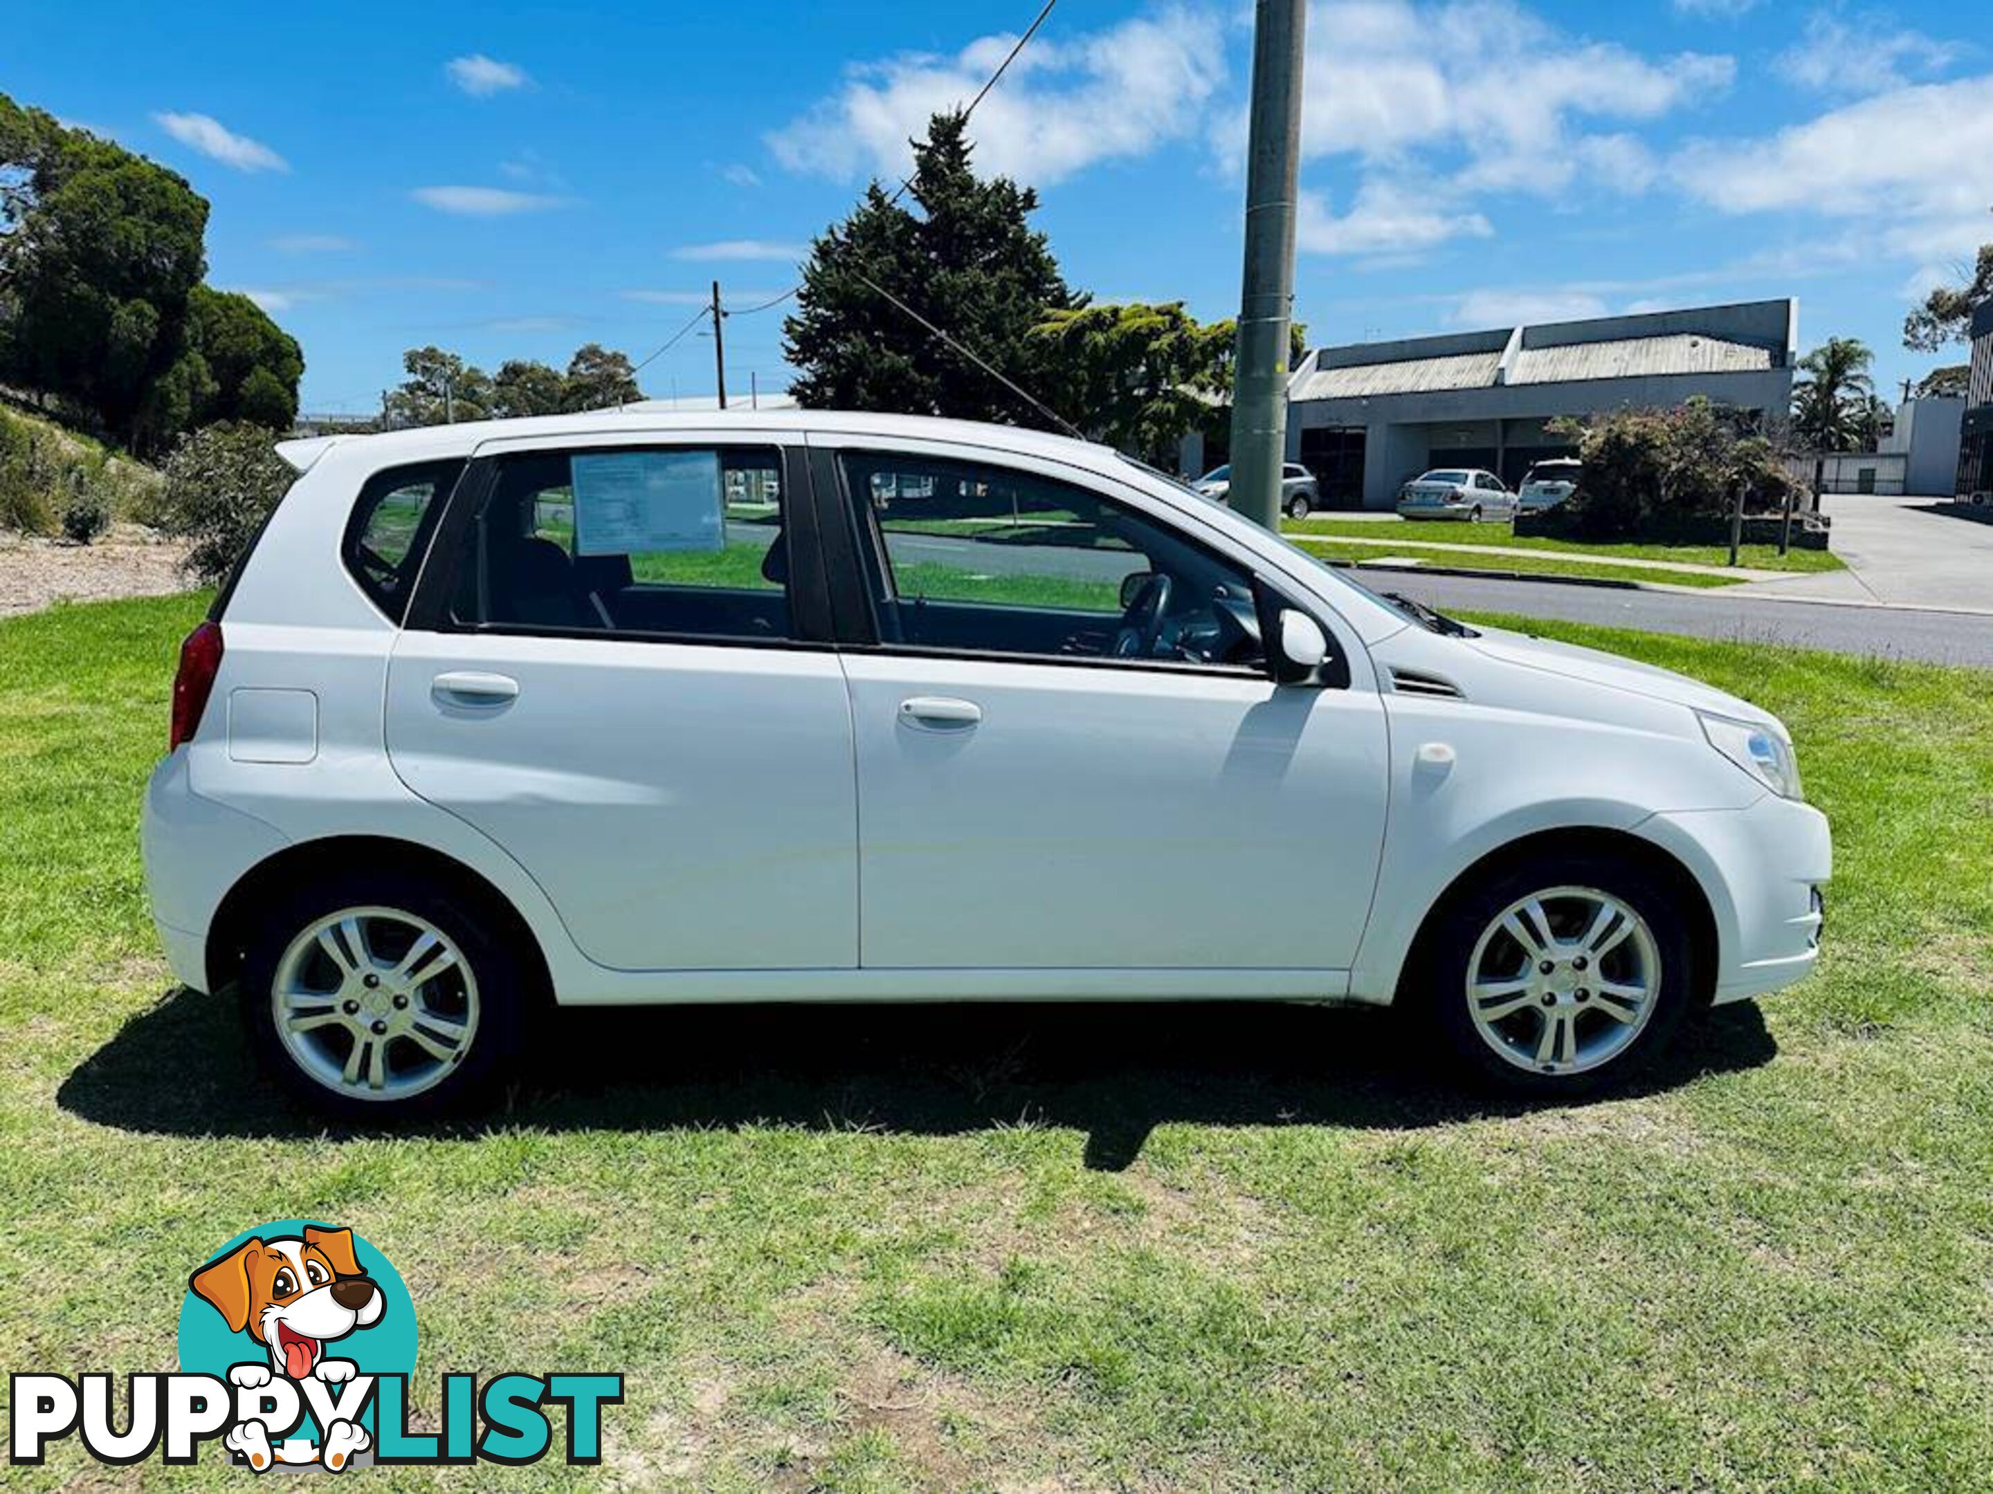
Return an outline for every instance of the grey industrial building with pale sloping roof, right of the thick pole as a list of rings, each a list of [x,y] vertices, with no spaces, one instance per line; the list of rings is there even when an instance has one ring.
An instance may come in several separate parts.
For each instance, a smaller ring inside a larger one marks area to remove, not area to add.
[[[1389,508],[1431,466],[1481,466],[1515,486],[1533,462],[1572,452],[1547,428],[1559,416],[1694,394],[1784,414],[1796,359],[1790,299],[1325,347],[1287,380],[1287,460],[1331,508]]]

